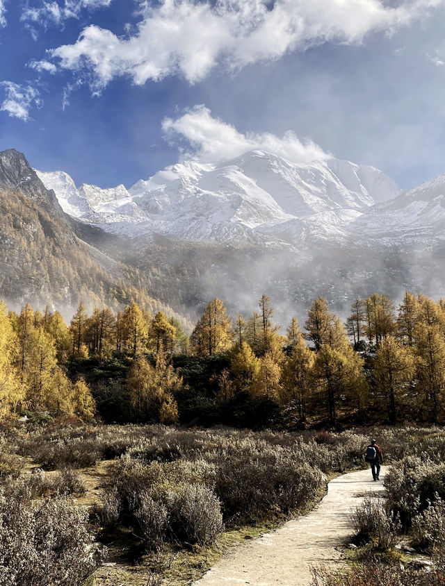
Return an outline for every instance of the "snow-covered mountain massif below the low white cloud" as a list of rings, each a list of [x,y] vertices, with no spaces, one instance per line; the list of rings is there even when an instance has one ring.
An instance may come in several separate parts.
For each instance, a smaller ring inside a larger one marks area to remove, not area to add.
[[[378,169],[331,159],[297,165],[264,151],[216,164],[184,162],[127,190],[76,188],[63,171],[42,173],[63,210],[118,235],[188,242],[295,243],[346,237],[365,210],[400,193]]]

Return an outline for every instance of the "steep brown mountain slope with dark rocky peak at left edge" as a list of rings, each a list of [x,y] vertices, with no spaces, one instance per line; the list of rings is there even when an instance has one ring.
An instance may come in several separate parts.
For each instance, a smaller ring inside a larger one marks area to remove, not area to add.
[[[135,269],[82,240],[82,231],[86,240],[101,241],[97,229],[65,215],[22,153],[0,153],[0,299],[10,308],[49,303],[67,317],[81,300],[89,308],[138,301],[152,311],[165,309]]]

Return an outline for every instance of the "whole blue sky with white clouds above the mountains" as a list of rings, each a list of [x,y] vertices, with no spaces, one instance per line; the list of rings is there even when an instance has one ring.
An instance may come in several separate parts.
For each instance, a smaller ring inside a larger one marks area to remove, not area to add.
[[[0,0],[0,149],[127,187],[181,157],[445,172],[444,0]]]

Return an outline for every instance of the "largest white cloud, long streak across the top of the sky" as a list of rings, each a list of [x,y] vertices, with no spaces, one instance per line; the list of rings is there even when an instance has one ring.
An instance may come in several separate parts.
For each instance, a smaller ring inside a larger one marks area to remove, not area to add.
[[[140,3],[136,31],[118,37],[88,26],[74,44],[49,51],[63,69],[87,69],[99,92],[116,76],[138,85],[180,74],[201,80],[220,63],[229,69],[334,42],[359,44],[375,31],[394,33],[445,0],[161,0]]]

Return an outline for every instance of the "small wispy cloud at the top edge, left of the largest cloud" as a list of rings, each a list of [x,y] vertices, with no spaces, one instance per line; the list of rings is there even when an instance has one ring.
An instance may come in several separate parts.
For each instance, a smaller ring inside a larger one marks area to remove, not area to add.
[[[0,0],[1,2],[1,0]],[[43,25],[63,24],[68,18],[79,18],[81,10],[88,8],[94,10],[104,6],[110,6],[112,0],[65,0],[63,4],[55,0],[42,0],[40,6],[27,6],[20,20],[27,24]]]

